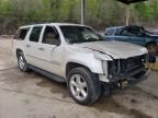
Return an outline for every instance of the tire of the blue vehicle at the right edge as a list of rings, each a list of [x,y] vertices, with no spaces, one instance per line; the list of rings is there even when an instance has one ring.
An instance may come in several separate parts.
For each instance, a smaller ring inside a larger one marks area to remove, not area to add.
[[[158,46],[156,44],[151,43],[148,44],[146,47],[149,52],[154,54],[155,56],[158,55]]]

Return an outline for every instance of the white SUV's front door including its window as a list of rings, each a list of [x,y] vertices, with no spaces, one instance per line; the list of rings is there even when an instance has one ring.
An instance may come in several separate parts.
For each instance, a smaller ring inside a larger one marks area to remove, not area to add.
[[[57,30],[54,26],[45,26],[40,43],[40,57],[43,61],[43,69],[60,75],[63,64],[63,48]]]

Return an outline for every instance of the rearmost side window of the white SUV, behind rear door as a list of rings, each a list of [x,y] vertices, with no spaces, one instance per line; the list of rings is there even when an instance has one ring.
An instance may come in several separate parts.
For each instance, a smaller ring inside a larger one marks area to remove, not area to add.
[[[21,30],[18,30],[18,32],[16,32],[15,35],[14,35],[14,39],[24,40],[24,38],[25,38],[26,35],[27,35],[29,30],[30,30],[30,28],[21,28]]]

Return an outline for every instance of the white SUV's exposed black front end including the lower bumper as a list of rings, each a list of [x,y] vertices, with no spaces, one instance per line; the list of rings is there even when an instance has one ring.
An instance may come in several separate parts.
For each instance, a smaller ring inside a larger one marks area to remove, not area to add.
[[[109,83],[124,83],[134,85],[148,78],[150,70],[146,69],[144,56],[133,57],[128,59],[114,60],[108,63]]]

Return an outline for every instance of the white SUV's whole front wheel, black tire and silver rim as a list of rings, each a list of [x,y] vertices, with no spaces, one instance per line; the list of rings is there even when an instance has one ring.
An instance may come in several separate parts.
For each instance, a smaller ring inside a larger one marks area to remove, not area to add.
[[[82,67],[68,73],[68,88],[71,97],[80,105],[90,105],[101,95],[98,75]]]

